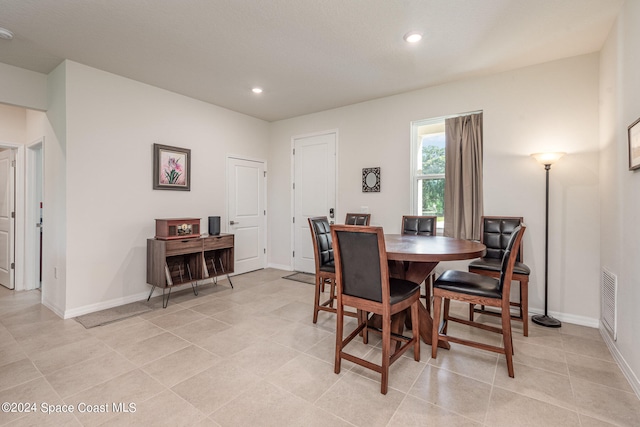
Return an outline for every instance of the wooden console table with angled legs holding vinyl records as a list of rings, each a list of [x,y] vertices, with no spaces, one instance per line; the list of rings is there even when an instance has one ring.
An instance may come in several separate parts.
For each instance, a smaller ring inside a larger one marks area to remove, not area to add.
[[[181,240],[147,239],[147,283],[153,291],[162,288],[166,308],[173,286],[191,284],[198,295],[198,281],[233,273],[233,234],[201,236]],[[165,297],[165,290],[169,289]]]

